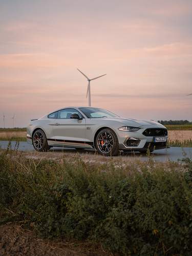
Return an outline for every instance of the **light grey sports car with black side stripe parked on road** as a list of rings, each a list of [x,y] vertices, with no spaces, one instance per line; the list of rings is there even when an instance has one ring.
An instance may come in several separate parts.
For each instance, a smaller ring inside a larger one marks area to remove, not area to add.
[[[53,146],[95,148],[116,156],[119,150],[146,152],[165,148],[167,129],[155,121],[122,118],[92,107],[68,107],[32,119],[27,140],[36,151]]]

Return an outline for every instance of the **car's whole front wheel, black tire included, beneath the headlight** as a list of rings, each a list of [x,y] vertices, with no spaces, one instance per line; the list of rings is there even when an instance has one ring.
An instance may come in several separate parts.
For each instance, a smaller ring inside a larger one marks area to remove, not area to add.
[[[119,141],[117,135],[109,128],[101,130],[97,134],[95,147],[100,155],[117,156],[119,154]]]

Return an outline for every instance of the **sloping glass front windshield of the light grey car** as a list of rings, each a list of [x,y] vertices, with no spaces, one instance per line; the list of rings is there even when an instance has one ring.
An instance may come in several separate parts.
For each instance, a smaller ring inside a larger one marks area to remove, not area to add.
[[[88,118],[114,118],[119,117],[114,113],[97,108],[79,108]]]

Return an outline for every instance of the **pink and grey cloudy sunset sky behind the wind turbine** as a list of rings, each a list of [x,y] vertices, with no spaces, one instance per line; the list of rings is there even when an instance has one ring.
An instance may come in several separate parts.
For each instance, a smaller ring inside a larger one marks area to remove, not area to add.
[[[191,0],[0,0],[0,127],[65,106],[192,119]]]

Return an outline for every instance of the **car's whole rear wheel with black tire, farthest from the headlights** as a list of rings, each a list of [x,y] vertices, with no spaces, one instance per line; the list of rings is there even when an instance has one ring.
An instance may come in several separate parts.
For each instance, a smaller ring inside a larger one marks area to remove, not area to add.
[[[33,147],[38,152],[46,152],[49,151],[51,146],[48,145],[46,135],[44,131],[38,129],[34,132],[32,138]]]

